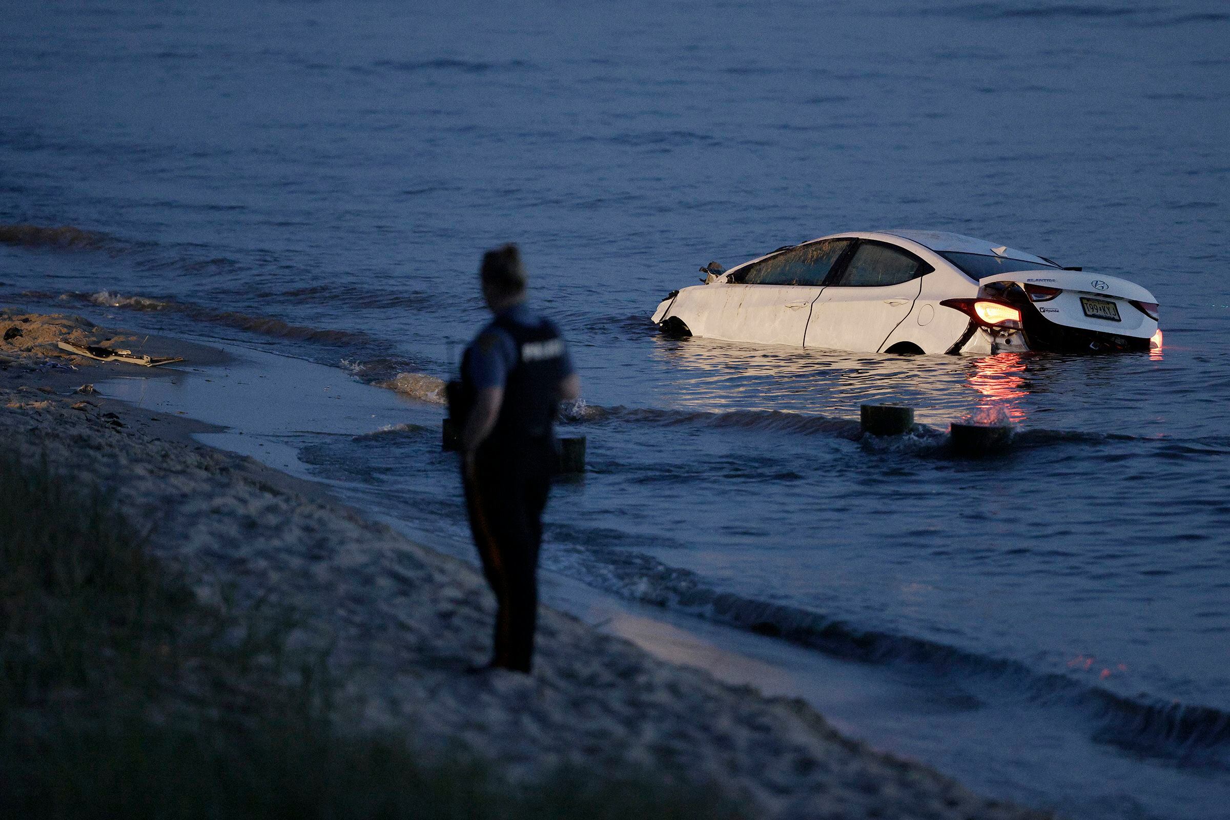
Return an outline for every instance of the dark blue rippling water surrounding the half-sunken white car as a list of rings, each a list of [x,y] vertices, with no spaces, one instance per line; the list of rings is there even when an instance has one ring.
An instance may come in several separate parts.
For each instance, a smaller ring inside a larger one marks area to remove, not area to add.
[[[455,538],[440,379],[481,251],[517,241],[584,380],[547,567],[905,676],[961,730],[903,706],[879,743],[983,790],[1230,816],[1224,2],[4,12],[5,304],[402,392],[403,427],[282,445]],[[889,226],[1139,282],[1165,347],[897,358],[648,322],[710,259]],[[861,439],[879,401],[924,429]],[[1014,444],[956,459],[979,408]]]

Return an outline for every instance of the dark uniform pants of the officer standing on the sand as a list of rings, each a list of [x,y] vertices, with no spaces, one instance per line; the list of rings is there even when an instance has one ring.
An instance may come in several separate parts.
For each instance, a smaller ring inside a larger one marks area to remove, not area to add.
[[[554,466],[547,440],[485,441],[474,478],[464,482],[474,543],[496,593],[493,666],[530,671],[542,509]]]

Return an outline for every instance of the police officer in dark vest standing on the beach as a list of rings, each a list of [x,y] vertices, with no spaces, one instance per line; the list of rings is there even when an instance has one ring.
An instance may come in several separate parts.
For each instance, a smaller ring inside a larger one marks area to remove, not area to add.
[[[466,348],[453,418],[474,542],[496,594],[496,639],[482,668],[529,672],[538,616],[542,509],[555,470],[560,401],[581,395],[560,331],[525,305],[515,245],[487,251],[482,295],[494,318]]]

